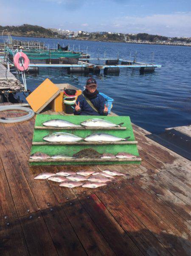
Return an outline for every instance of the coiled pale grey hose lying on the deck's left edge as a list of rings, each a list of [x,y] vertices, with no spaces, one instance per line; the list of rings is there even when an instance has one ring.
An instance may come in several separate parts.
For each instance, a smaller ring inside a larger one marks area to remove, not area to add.
[[[27,107],[23,107],[20,105],[0,106],[0,111],[11,110],[11,109],[22,110],[22,111],[28,112],[28,114],[20,117],[14,117],[14,118],[0,118],[0,123],[5,123],[5,124],[18,123],[18,122],[27,121],[32,117],[34,117],[34,111],[32,109],[28,109]]]

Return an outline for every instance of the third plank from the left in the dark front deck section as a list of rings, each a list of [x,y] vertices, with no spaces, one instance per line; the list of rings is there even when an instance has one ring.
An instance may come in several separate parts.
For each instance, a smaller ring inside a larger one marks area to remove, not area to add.
[[[42,216],[60,256],[87,255],[61,207],[43,210]]]

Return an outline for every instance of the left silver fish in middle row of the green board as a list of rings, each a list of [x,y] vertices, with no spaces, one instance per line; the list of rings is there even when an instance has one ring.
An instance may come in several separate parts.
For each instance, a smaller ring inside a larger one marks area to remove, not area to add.
[[[83,138],[68,132],[54,132],[43,137],[43,140],[50,142],[76,142],[83,140]]]

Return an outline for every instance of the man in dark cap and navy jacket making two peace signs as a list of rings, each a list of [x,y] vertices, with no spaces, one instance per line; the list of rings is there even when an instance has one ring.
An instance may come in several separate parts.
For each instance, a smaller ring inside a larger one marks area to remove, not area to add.
[[[86,89],[75,104],[74,115],[108,115],[105,98],[99,94],[94,78],[87,79]]]

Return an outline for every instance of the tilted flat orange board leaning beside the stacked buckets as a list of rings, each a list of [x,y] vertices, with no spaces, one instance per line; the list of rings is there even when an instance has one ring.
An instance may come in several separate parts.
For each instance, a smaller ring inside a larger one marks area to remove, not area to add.
[[[60,89],[48,78],[45,79],[30,95],[26,98],[28,104],[34,112],[39,113],[45,108],[57,95]]]

